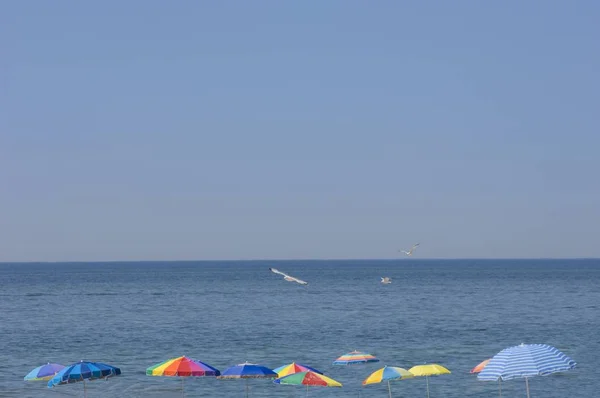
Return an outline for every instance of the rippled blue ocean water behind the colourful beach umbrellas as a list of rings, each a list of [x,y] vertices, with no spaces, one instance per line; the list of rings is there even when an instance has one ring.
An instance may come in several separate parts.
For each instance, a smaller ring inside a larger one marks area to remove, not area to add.
[[[309,282],[285,282],[276,267]],[[382,285],[380,277],[393,283]],[[530,379],[532,397],[600,396],[600,260],[249,261],[0,264],[0,397],[82,396],[82,383],[24,382],[46,362],[118,366],[88,397],[180,397],[179,378],[145,369],[187,355],[220,370],[244,361],[292,361],[342,388],[312,397],[387,397],[361,386],[383,365],[439,363],[431,397],[495,397],[469,370],[520,343],[573,358],[566,373]],[[363,350],[381,362],[333,366]],[[503,396],[525,397],[524,380]],[[392,382],[394,396],[425,397],[425,379]],[[252,397],[304,396],[302,387],[249,382]],[[243,397],[244,381],[186,378],[187,397]]]

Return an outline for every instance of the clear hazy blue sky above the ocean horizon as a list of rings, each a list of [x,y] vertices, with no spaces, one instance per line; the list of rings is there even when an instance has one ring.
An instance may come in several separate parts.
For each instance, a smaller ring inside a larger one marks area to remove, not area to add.
[[[600,257],[598,20],[0,2],[0,261]]]

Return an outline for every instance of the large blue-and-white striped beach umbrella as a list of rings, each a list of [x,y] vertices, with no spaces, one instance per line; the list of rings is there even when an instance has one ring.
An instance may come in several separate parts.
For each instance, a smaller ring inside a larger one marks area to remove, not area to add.
[[[530,377],[565,372],[576,365],[571,358],[547,344],[521,344],[494,355],[477,379],[495,381],[524,377],[529,398]]]

